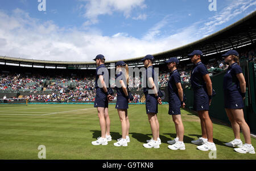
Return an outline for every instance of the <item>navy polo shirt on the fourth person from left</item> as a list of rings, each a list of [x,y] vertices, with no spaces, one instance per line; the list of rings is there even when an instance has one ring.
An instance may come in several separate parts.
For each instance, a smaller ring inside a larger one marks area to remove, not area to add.
[[[175,69],[173,72],[170,73],[170,78],[168,81],[168,93],[169,95],[177,94],[177,86],[176,84],[181,82],[180,80],[180,73]]]

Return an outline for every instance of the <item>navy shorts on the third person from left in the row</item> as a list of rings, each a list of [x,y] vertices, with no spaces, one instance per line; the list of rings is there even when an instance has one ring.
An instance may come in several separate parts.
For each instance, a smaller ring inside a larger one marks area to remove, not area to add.
[[[158,101],[155,98],[155,94],[146,94],[146,112],[147,114],[158,113]]]

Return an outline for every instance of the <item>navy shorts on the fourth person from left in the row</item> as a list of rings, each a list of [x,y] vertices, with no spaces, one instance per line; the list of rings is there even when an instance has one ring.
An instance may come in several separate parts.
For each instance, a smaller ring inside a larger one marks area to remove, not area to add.
[[[180,115],[180,98],[176,94],[169,95],[169,115]]]

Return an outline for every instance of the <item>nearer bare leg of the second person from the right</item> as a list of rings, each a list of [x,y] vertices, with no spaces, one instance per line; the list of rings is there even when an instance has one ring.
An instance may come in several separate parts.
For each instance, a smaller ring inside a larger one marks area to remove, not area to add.
[[[212,125],[212,120],[210,120],[209,113],[207,110],[198,111],[198,112],[199,112],[199,115],[201,115],[201,120],[203,120],[208,142],[213,143],[213,125]]]

